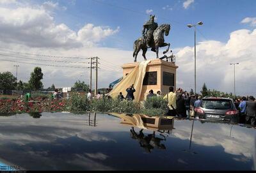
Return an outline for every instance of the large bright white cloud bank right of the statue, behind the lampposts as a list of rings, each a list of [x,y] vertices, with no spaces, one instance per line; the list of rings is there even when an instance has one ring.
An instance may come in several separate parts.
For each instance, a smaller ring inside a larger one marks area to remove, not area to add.
[[[230,33],[227,43],[214,40],[198,43],[196,46],[196,90],[200,91],[205,82],[211,89],[233,92],[234,71],[230,63],[239,62],[236,66],[236,94],[256,95],[253,89],[256,85],[255,47],[256,29],[234,31]],[[186,81],[179,87],[193,88],[194,47],[184,47],[177,52],[176,56],[176,62],[179,65],[177,80]]]

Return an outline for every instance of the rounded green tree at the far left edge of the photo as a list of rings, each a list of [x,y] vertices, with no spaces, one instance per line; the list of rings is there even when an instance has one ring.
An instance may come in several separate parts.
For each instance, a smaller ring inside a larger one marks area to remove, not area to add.
[[[10,71],[0,73],[0,89],[15,89],[16,77]]]

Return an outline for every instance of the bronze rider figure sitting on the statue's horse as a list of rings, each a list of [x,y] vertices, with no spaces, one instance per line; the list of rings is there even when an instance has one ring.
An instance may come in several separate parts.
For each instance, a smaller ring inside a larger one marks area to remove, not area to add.
[[[150,15],[150,19],[148,20],[148,22],[146,22],[143,25],[142,36],[146,40],[148,48],[151,47],[151,42],[153,40],[153,33],[158,26],[157,23],[154,22],[154,19],[155,19],[155,16]],[[146,29],[147,29],[147,31],[145,32]],[[152,48],[152,50],[154,51],[153,48]]]

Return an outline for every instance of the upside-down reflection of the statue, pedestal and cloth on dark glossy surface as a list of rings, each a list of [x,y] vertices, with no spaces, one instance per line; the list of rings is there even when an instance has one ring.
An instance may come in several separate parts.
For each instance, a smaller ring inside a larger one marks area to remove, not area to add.
[[[139,144],[147,153],[151,153],[151,150],[154,148],[157,149],[166,149],[164,144],[161,144],[162,140],[166,140],[166,137],[163,133],[170,134],[173,129],[174,119],[173,117],[149,117],[143,114],[112,114],[114,116],[120,117],[121,124],[127,124],[132,126],[131,138],[138,140]],[[134,126],[140,128],[140,132],[136,133]],[[152,134],[144,135],[143,129],[153,131]],[[159,132],[163,138],[157,137],[156,132]]]

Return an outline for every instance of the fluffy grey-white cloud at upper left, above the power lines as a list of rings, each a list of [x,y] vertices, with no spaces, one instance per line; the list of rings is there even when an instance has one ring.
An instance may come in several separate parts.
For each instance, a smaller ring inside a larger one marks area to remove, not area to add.
[[[46,4],[51,10],[58,6]],[[119,27],[114,30],[85,24],[76,32],[65,24],[55,24],[51,13],[44,8],[0,8],[0,35],[6,43],[20,43],[29,47],[81,47],[95,45],[118,31]]]

